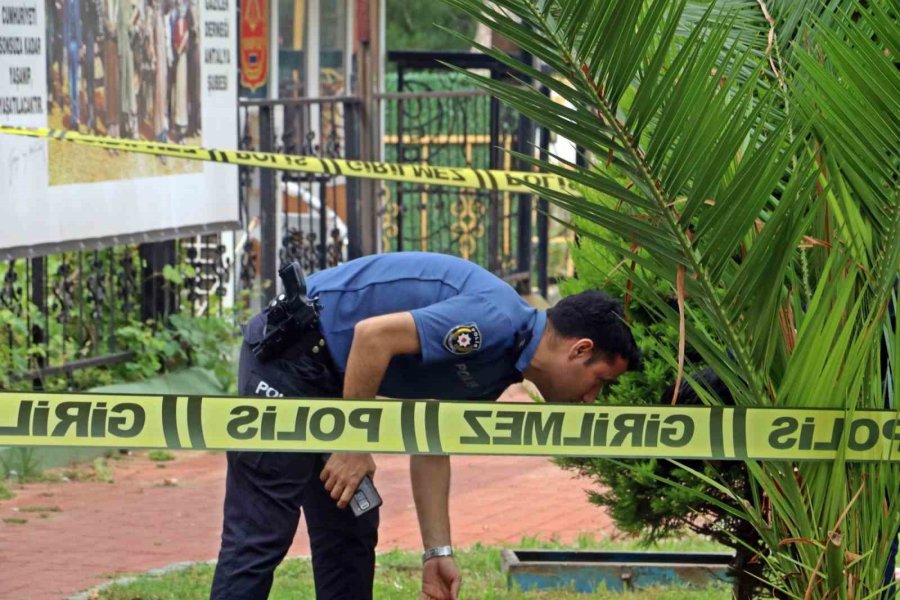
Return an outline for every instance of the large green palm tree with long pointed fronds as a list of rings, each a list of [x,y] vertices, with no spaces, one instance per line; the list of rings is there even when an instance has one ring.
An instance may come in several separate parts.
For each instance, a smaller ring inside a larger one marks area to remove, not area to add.
[[[895,3],[446,1],[546,66],[483,48],[566,105],[470,76],[583,149],[587,167],[522,158],[591,190],[538,191],[633,265],[635,297],[680,331],[679,373],[689,347],[739,406],[900,397]],[[880,594],[900,463],[839,454],[749,461],[743,495],[696,473],[764,541],[779,596]]]

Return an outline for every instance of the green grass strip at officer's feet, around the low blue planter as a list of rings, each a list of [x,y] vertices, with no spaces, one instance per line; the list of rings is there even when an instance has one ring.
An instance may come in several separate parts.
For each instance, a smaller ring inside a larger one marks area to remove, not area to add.
[[[534,539],[522,540],[516,548],[571,548],[555,542],[539,542]],[[594,542],[584,536],[574,544],[577,548],[592,549],[637,549],[635,543]],[[653,547],[653,550],[677,550],[683,552],[716,552],[725,550],[722,546],[697,539],[671,542]],[[421,562],[418,552],[391,551],[378,555],[375,573],[374,597],[383,600],[406,600],[418,598]],[[523,592],[507,590],[506,580],[500,571],[500,549],[480,544],[463,550],[457,555],[457,564],[463,572],[463,599],[477,600],[727,600],[730,588],[716,585],[708,589],[682,587],[642,589],[633,593],[597,592],[577,594],[571,591]],[[96,596],[96,600],[190,600],[205,599],[209,596],[214,565],[194,565],[184,570],[162,576],[142,575],[126,585],[110,586]],[[275,574],[275,585],[269,596],[271,600],[314,600],[312,587],[312,566],[309,560],[287,560]]]

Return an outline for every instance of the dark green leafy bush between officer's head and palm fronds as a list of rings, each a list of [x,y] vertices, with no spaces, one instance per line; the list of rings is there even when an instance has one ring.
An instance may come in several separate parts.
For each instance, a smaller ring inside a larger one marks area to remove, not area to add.
[[[596,202],[603,202],[596,194],[585,194]],[[597,236],[604,233],[587,222],[579,223],[583,231]],[[678,331],[660,322],[640,302],[629,296],[630,266],[616,263],[604,247],[588,237],[582,237],[571,248],[578,277],[560,283],[563,296],[587,289],[603,288],[613,295],[627,297],[632,331],[641,350],[643,371],[627,372],[619,380],[604,388],[599,401],[616,406],[645,406],[671,402],[677,363],[673,349],[678,347]],[[641,273],[642,277],[652,275]],[[666,284],[658,282],[661,293]],[[673,299],[674,302],[674,299]],[[686,373],[693,375],[704,388],[731,403],[728,389],[709,370],[699,363],[699,356],[686,351]],[[678,395],[679,404],[700,404],[691,385],[683,382]],[[621,531],[640,536],[647,544],[683,534],[686,530],[706,535],[734,548],[737,572],[748,570],[748,563],[761,540],[745,521],[734,518],[720,504],[701,500],[713,497],[726,505],[735,505],[726,494],[698,479],[691,471],[668,460],[608,460],[602,458],[559,458],[556,463],[591,479],[597,488],[588,491],[589,500],[604,507]],[[689,469],[708,477],[723,479],[733,490],[749,493],[747,470],[740,462],[685,461]],[[623,468],[624,467],[624,468]],[[662,485],[668,480],[677,485]],[[760,575],[760,564],[750,570]],[[758,581],[752,575],[741,576],[740,589],[752,593]]]

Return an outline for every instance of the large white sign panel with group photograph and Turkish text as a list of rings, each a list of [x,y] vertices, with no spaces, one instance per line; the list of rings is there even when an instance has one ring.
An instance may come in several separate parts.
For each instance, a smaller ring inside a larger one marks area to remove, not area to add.
[[[0,123],[237,147],[236,0],[0,0]],[[233,166],[0,136],[0,250],[227,227]]]

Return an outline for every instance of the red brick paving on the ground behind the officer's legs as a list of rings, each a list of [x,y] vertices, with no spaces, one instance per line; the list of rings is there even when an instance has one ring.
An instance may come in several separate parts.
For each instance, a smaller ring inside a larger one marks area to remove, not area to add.
[[[573,540],[613,531],[574,480],[545,458],[454,457],[454,543],[519,541],[524,536]],[[379,551],[420,548],[408,458],[377,458],[384,497]],[[0,598],[65,598],[117,574],[216,557],[225,457],[182,452],[158,468],[146,453],[109,461],[115,482],[28,484],[0,501]],[[177,480],[165,485],[166,479]],[[527,501],[526,501],[527,499]],[[40,514],[16,511],[59,507]],[[3,521],[24,518],[27,523]],[[309,547],[298,532],[291,555]]]

